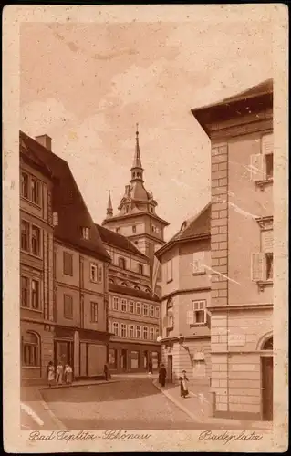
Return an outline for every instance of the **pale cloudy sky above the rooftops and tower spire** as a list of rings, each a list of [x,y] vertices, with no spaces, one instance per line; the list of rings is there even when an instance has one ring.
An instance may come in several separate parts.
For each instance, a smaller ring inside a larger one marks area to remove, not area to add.
[[[210,201],[210,140],[191,109],[273,77],[270,23],[216,16],[21,25],[20,128],[52,138],[96,223],[130,183],[137,122],[165,239]]]

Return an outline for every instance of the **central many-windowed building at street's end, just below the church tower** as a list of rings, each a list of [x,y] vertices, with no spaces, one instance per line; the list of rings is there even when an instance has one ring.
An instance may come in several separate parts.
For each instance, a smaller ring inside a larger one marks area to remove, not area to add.
[[[158,368],[160,300],[151,291],[150,261],[129,239],[97,225],[111,257],[109,266],[109,369],[137,372]]]

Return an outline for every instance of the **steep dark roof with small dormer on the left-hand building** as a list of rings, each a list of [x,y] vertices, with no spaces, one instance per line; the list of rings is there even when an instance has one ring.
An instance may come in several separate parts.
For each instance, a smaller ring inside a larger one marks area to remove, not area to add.
[[[78,185],[69,169],[68,162],[51,150],[20,131],[20,143],[29,154],[45,164],[53,176],[52,208],[58,213],[58,225],[54,227],[56,238],[93,257],[110,262],[109,254],[102,244],[99,231],[93,222]],[[81,228],[89,228],[89,239],[81,237]]]

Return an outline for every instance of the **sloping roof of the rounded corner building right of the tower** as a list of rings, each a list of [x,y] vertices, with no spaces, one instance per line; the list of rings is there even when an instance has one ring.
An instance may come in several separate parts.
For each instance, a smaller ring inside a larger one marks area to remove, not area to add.
[[[176,233],[167,244],[162,245],[155,254],[161,257],[161,254],[167,252],[172,245],[186,241],[194,241],[210,236],[211,221],[211,203],[209,202],[201,212],[194,215],[182,223],[181,229]]]

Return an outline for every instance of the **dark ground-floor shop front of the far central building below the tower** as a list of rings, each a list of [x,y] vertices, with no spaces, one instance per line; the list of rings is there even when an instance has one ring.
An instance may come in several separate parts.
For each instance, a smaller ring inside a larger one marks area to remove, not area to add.
[[[160,344],[109,343],[109,370],[111,373],[148,372],[158,370],[161,363]]]

